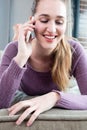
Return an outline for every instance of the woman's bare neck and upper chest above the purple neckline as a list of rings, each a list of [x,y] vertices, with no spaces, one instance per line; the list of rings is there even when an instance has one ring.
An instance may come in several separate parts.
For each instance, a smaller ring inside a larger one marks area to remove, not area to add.
[[[43,50],[33,44],[33,51],[29,62],[36,71],[47,72],[51,68],[52,56],[46,50]]]

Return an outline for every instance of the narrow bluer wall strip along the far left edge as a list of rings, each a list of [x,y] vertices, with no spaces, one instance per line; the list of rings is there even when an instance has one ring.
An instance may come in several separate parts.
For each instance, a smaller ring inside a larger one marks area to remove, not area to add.
[[[9,39],[9,9],[10,0],[0,0],[0,49],[3,49]]]

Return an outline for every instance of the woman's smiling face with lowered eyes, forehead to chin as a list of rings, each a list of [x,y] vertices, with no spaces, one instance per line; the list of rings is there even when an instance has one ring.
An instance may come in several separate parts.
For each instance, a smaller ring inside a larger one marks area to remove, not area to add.
[[[60,0],[41,0],[35,13],[35,34],[39,45],[54,49],[66,30],[66,7]]]

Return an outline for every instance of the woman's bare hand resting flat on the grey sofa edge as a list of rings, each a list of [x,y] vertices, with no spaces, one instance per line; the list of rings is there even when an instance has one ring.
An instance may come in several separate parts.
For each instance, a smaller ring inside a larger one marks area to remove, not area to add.
[[[54,107],[59,99],[60,95],[58,95],[56,92],[50,92],[48,94],[38,96],[30,100],[20,101],[19,103],[13,105],[11,108],[8,109],[9,115],[14,115],[21,109],[26,108],[23,114],[16,121],[16,124],[20,125],[24,121],[24,119],[33,112],[29,121],[27,122],[27,126],[30,126],[40,113]]]

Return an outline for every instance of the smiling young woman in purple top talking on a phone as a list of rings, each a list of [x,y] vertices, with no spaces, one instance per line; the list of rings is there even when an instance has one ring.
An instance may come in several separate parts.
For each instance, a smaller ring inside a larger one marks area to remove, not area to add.
[[[21,99],[24,94],[36,96],[8,109],[14,115],[26,108],[17,125],[33,112],[27,126],[55,106],[87,109],[87,56],[81,44],[65,37],[64,0],[35,0],[32,12],[33,17],[19,26],[18,41],[6,47],[0,66],[0,108],[11,106],[17,90],[23,93]],[[28,41],[27,34],[32,31],[35,38],[30,36]],[[64,91],[72,75],[81,95]]]

